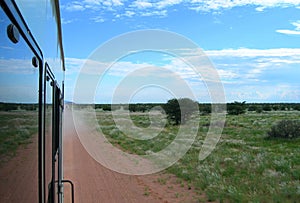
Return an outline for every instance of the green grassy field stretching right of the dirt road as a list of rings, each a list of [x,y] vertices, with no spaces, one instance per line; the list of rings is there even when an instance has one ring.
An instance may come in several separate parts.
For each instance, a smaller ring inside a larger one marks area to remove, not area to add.
[[[165,119],[164,115],[159,116],[162,121]],[[136,154],[163,149],[178,132],[178,126],[166,125],[153,139],[135,140],[117,128],[109,112],[98,111],[97,118],[101,131],[112,144]],[[166,172],[187,181],[199,194],[205,193],[207,200],[199,199],[200,202],[297,202],[300,199],[300,139],[266,139],[266,136],[277,121],[299,118],[300,111],[229,115],[217,147],[207,159],[199,161],[199,151],[210,124],[209,115],[201,116],[191,149]],[[131,119],[139,127],[150,125],[146,113],[132,113]]]

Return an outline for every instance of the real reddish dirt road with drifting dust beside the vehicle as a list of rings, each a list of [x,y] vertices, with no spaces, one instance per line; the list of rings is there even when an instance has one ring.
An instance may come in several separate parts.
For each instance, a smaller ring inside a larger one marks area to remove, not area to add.
[[[81,145],[68,110],[64,124],[64,178],[74,183],[76,203],[198,202],[195,191],[173,175],[130,176],[105,168]],[[70,202],[67,185],[65,202]]]

